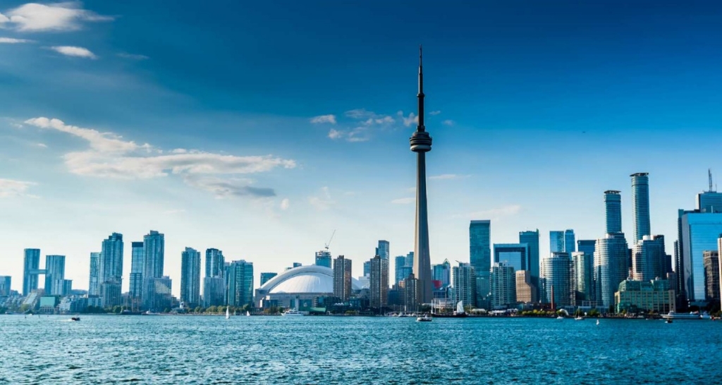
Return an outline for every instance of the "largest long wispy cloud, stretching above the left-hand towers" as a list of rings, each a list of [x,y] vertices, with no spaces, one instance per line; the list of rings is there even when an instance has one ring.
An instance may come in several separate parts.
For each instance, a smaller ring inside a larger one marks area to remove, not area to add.
[[[210,191],[217,197],[269,197],[276,195],[273,189],[251,186],[253,181],[248,179],[218,176],[296,167],[294,160],[272,155],[236,156],[185,149],[163,153],[150,144],[136,144],[117,134],[71,126],[59,119],[32,118],[25,124],[84,139],[88,150],[64,155],[68,170],[82,176],[133,179],[181,175],[189,186]]]

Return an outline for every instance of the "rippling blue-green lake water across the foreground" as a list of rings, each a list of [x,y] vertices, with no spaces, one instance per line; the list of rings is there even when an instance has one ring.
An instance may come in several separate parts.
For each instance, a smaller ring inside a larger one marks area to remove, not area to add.
[[[0,384],[719,384],[722,321],[0,316]]]

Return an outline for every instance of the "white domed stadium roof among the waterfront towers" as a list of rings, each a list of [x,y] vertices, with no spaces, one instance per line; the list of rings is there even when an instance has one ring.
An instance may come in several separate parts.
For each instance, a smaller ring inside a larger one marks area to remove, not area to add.
[[[351,279],[354,293],[362,290],[360,282]],[[278,274],[256,289],[254,303],[258,308],[281,306],[294,308],[297,303],[313,303],[321,297],[334,296],[334,270],[309,265]]]

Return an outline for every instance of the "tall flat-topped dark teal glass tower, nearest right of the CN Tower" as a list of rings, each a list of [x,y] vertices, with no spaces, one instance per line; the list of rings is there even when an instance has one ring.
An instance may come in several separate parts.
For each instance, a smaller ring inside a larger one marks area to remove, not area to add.
[[[477,294],[472,302],[477,306],[487,306],[488,304],[487,300],[491,290],[489,281],[492,268],[491,254],[491,221],[472,220],[469,224],[469,262],[477,274],[477,282],[474,284]]]

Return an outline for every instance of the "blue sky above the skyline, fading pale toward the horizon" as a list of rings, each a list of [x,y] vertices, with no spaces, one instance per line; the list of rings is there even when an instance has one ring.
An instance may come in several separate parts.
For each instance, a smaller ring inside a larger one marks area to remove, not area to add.
[[[67,256],[87,288],[103,238],[354,274],[378,239],[413,247],[417,49],[425,49],[432,263],[468,225],[604,232],[602,194],[650,173],[676,233],[719,167],[722,5],[649,1],[0,3],[0,274]],[[124,282],[126,284],[126,282]],[[126,284],[127,285],[127,284]]]

